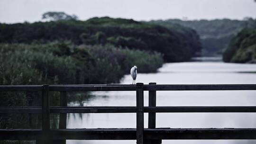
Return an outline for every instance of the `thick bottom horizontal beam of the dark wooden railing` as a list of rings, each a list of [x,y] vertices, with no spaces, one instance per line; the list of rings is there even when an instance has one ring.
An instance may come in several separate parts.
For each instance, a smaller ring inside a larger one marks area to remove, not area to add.
[[[135,140],[136,128],[51,129],[54,140]],[[0,137],[10,140],[40,139],[41,129],[0,129]],[[145,128],[145,140],[159,139],[256,139],[256,128]],[[147,143],[148,144],[148,143]]]

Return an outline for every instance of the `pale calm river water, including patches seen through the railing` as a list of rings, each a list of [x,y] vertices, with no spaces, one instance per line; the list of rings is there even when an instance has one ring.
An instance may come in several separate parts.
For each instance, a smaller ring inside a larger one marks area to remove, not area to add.
[[[139,73],[136,82],[157,84],[255,84],[256,64],[222,62],[165,63],[157,73]],[[125,75],[121,84],[131,84]],[[135,91],[93,92],[69,106],[136,106]],[[148,92],[144,93],[148,106]],[[256,106],[256,91],[157,91],[156,106]],[[145,127],[147,127],[147,114]],[[69,114],[68,128],[135,128],[136,114]],[[157,113],[156,127],[256,128],[255,113]],[[136,141],[67,140],[67,144],[136,144]],[[162,144],[256,144],[254,140],[163,140]]]

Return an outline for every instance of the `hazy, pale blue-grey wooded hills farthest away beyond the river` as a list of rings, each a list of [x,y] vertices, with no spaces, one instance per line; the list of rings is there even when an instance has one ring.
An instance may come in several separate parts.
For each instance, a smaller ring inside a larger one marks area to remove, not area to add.
[[[246,18],[245,20],[215,19],[215,20],[155,20],[152,23],[169,27],[169,25],[179,24],[184,27],[194,29],[200,36],[203,56],[215,56],[223,53],[229,45],[230,40],[243,28],[255,26],[255,20]]]

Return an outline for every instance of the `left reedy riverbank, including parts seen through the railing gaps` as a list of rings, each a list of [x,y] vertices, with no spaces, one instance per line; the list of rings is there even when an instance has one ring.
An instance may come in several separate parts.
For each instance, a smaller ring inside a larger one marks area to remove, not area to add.
[[[156,72],[162,54],[117,48],[113,45],[74,45],[70,42],[0,44],[0,85],[118,83],[133,65],[138,72]],[[30,95],[27,97],[27,95]],[[0,92],[1,107],[41,106],[41,93]],[[50,105],[59,106],[59,93],[51,93]],[[69,101],[90,95],[70,95]],[[41,128],[41,116],[0,114],[0,128]],[[17,119],[19,119],[17,121]],[[51,126],[58,126],[58,114]]]

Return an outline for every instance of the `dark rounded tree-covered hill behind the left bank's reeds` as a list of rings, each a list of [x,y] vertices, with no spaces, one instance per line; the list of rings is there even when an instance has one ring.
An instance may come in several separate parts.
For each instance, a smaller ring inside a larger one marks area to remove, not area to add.
[[[156,51],[166,62],[188,61],[201,52],[197,33],[179,25],[162,27],[122,18],[91,18],[86,21],[0,24],[0,43],[32,43],[69,40],[75,45],[107,45]]]

